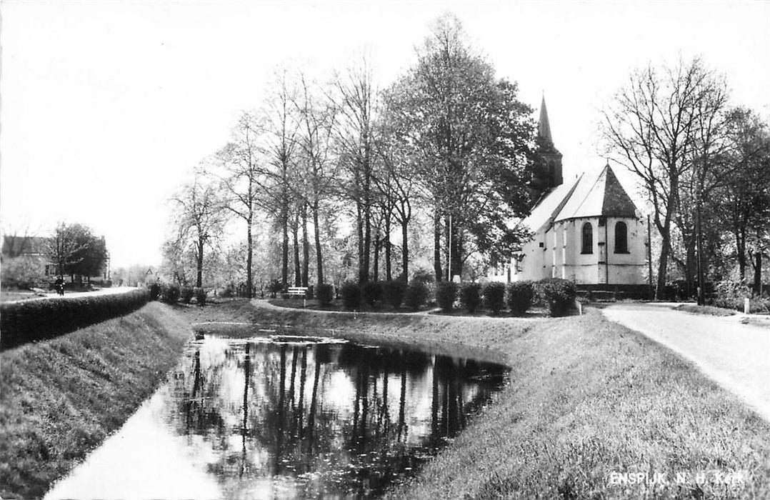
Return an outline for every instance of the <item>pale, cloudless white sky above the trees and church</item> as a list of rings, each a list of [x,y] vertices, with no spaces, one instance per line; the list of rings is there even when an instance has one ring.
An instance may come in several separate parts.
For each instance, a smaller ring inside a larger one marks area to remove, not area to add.
[[[535,118],[545,96],[565,180],[604,166],[599,110],[649,63],[701,56],[770,117],[768,0],[0,0],[0,230],[83,223],[113,269],[157,265],[169,198],[276,69],[323,80],[367,52],[388,86],[445,12]]]

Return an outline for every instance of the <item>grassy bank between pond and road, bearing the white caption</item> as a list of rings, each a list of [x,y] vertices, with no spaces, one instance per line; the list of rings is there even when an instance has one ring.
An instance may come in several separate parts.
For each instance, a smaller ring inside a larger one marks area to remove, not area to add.
[[[392,498],[770,498],[770,425],[688,362],[597,310],[553,320],[352,317],[239,301],[189,314],[504,357],[511,384]],[[612,473],[634,472],[685,481],[611,484]],[[744,475],[726,485],[717,472]],[[698,483],[700,474],[706,482]]]

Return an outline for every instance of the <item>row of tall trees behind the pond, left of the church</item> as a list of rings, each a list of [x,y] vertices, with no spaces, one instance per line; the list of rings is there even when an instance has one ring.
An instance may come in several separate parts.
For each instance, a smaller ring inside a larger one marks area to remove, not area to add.
[[[245,227],[249,292],[256,227],[269,227],[263,250],[278,257],[283,287],[324,283],[330,265],[357,269],[360,283],[406,279],[420,220],[437,280],[463,273],[470,256],[505,258],[524,236],[505,222],[528,208],[534,130],[515,84],[496,78],[450,15],[386,89],[365,57],[326,85],[281,72],[175,197],[164,270],[192,281],[194,264],[201,286],[206,252],[221,263],[233,250],[222,248],[230,220]]]

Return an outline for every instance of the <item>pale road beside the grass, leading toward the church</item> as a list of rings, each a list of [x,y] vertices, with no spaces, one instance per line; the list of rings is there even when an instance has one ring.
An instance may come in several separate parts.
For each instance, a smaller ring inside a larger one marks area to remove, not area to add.
[[[692,361],[770,421],[770,329],[655,304],[614,304],[602,312]]]

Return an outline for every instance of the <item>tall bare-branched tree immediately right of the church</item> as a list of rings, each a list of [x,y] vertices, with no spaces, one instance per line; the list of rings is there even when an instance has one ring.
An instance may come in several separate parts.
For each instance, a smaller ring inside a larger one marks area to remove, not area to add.
[[[696,129],[713,75],[700,59],[631,73],[603,111],[601,133],[609,155],[638,176],[661,235],[656,297],[665,290],[672,223],[680,190],[694,166]]]

